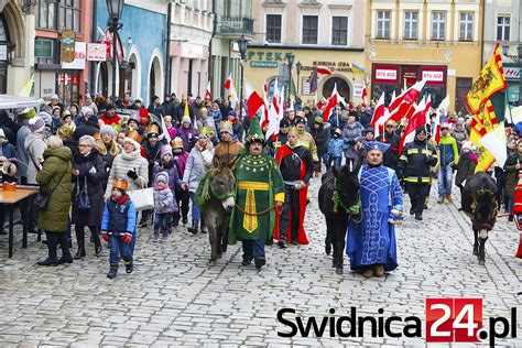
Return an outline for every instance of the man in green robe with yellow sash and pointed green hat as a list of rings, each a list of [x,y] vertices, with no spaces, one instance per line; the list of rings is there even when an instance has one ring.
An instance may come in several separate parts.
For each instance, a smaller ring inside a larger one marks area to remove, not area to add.
[[[235,164],[236,207],[230,217],[228,243],[243,243],[243,265],[254,260],[259,270],[267,263],[265,243],[272,243],[275,211],[281,213],[284,183],[272,157],[263,154],[264,135],[254,117],[247,135],[247,146]]]

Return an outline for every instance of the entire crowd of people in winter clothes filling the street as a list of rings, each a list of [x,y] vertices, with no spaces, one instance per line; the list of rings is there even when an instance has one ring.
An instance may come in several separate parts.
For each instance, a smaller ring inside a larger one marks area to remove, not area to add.
[[[133,111],[119,115],[120,109]],[[434,177],[438,177],[438,203],[443,204],[453,202],[454,172],[460,188],[474,173],[477,149],[468,141],[469,117],[457,117],[455,112],[445,116],[439,143],[431,137],[429,124],[418,128],[414,141],[399,153],[405,123],[389,121],[376,138],[372,112],[372,106],[339,105],[326,122],[320,107],[302,107],[298,101],[285,110],[280,132],[265,139],[267,124],[259,117],[249,120],[244,110],[241,112],[220,98],[213,101],[187,96],[180,100],[172,94],[165,95],[163,101],[154,97],[145,108],[130,94],[115,104],[104,97],[93,100],[86,96],[81,106],[68,107],[53,96],[41,110],[29,108],[14,117],[0,111],[0,162],[17,159],[12,161],[17,174],[3,173],[2,180],[40,186],[41,194],[21,207],[30,232],[46,233],[48,257],[40,265],[85,258],[88,228],[96,255],[102,251],[101,240],[109,243],[107,275],[115,278],[120,258],[128,273],[133,270],[138,227],[151,224],[153,242],[167,242],[180,224],[187,225],[193,235],[206,232],[197,187],[217,160],[233,167],[237,176],[239,210],[232,211],[229,242],[242,240],[243,264],[254,260],[259,269],[265,263],[264,244],[272,240],[273,225],[280,248],[308,243],[303,226],[307,187],[314,177],[331,167],[346,164],[367,168],[361,172],[361,182],[366,173],[372,173],[368,168],[389,167],[393,174],[378,171],[379,175],[396,178],[383,183],[393,185],[394,192],[396,183],[401,184],[410,195],[410,214],[417,220],[427,208]],[[513,208],[514,186],[522,167],[522,140],[518,140],[522,126],[518,127],[509,129],[510,156],[504,168],[494,170],[508,211]],[[129,193],[146,187],[153,188],[154,206],[139,214]],[[50,199],[42,207],[45,195]],[[401,195],[395,193],[396,202],[390,209],[403,209]],[[362,200],[362,207],[369,204]],[[273,207],[276,215],[271,211],[264,217],[260,207],[264,207],[263,211]],[[2,205],[0,209],[3,232]],[[394,240],[388,239],[388,248],[391,243]],[[360,268],[360,260],[352,262]],[[382,275],[387,261],[371,262],[363,271],[372,272],[366,274]]]

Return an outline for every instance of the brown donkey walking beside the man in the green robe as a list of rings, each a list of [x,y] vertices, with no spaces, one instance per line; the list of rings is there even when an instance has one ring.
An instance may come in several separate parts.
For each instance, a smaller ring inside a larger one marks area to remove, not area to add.
[[[203,220],[208,229],[208,240],[211,248],[210,261],[216,264],[216,260],[221,259],[222,253],[227,251],[230,211],[236,204],[236,177],[227,163],[215,157],[213,167],[206,175],[206,181],[202,180],[199,185],[203,187],[198,187],[198,192],[203,192],[203,195],[206,196],[200,208]]]

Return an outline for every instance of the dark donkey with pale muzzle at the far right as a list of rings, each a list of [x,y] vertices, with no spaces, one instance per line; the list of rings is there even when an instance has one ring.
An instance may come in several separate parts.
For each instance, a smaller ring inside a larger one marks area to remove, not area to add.
[[[499,211],[498,187],[485,172],[471,175],[463,189],[463,211],[471,219],[474,229],[474,255],[480,265],[486,263],[486,241],[493,229]]]

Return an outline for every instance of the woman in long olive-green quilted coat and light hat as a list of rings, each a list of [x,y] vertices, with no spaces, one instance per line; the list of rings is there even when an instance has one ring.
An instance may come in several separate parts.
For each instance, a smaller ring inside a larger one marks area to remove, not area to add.
[[[70,208],[72,156],[70,150],[64,146],[62,139],[50,137],[47,149],[43,153],[42,171],[36,175],[40,187],[52,192],[47,209],[41,209],[39,214],[39,228],[45,231],[48,249],[47,259],[39,262],[39,265],[73,263],[66,236]],[[56,255],[58,244],[62,248],[59,260]]]

